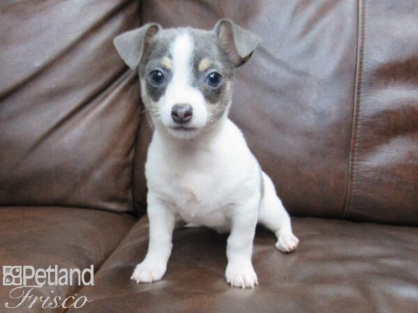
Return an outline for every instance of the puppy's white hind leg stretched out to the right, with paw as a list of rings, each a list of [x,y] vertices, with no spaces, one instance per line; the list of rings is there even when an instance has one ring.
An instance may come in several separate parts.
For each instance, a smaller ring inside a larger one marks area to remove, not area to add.
[[[281,252],[295,250],[299,239],[293,234],[291,218],[277,196],[272,180],[263,172],[264,194],[260,203],[258,221],[277,236],[276,248]]]

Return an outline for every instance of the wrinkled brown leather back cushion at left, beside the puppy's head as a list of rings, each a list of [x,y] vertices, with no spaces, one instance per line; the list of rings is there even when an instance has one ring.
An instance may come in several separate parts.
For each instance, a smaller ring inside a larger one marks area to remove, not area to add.
[[[139,93],[112,40],[137,6],[0,6],[0,206],[132,210]]]

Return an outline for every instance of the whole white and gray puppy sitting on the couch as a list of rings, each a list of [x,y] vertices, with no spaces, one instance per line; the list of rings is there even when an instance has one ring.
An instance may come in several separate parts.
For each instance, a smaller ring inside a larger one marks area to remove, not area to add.
[[[125,63],[139,69],[142,100],[155,125],[146,161],[148,253],[132,280],[162,278],[178,221],[231,232],[225,275],[236,287],[258,284],[251,264],[257,222],[276,234],[277,249],[296,248],[272,180],[228,118],[235,67],[258,43],[229,19],[211,31],[146,24],[115,38]]]

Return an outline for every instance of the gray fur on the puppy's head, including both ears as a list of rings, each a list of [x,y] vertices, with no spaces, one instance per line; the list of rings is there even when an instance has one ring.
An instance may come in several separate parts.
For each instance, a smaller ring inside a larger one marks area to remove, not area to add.
[[[232,97],[232,79],[235,67],[244,64],[258,46],[257,35],[242,29],[229,19],[221,19],[214,29],[205,31],[192,28],[161,29],[158,24],[146,24],[134,31],[128,31],[115,38],[114,44],[121,57],[132,69],[138,67],[139,77],[146,84],[146,95],[154,102],[164,95],[171,80],[171,70],[162,67],[162,60],[172,60],[169,49],[179,32],[187,32],[194,41],[192,60],[192,86],[201,90],[208,103],[207,109],[214,120],[219,120],[228,110]],[[199,71],[199,63],[204,58],[210,67]],[[165,81],[160,86],[149,83],[153,70],[163,72]],[[216,71],[222,74],[223,81],[218,88],[210,88],[206,83],[208,74]],[[144,97],[144,104],[148,107]]]

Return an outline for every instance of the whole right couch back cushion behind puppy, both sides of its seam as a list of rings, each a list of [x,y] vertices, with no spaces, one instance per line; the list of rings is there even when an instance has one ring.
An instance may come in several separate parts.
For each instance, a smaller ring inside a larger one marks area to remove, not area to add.
[[[144,0],[141,21],[211,29],[228,17],[261,35],[236,72],[230,117],[291,214],[417,224],[414,3]],[[150,134],[141,123],[139,208]]]

